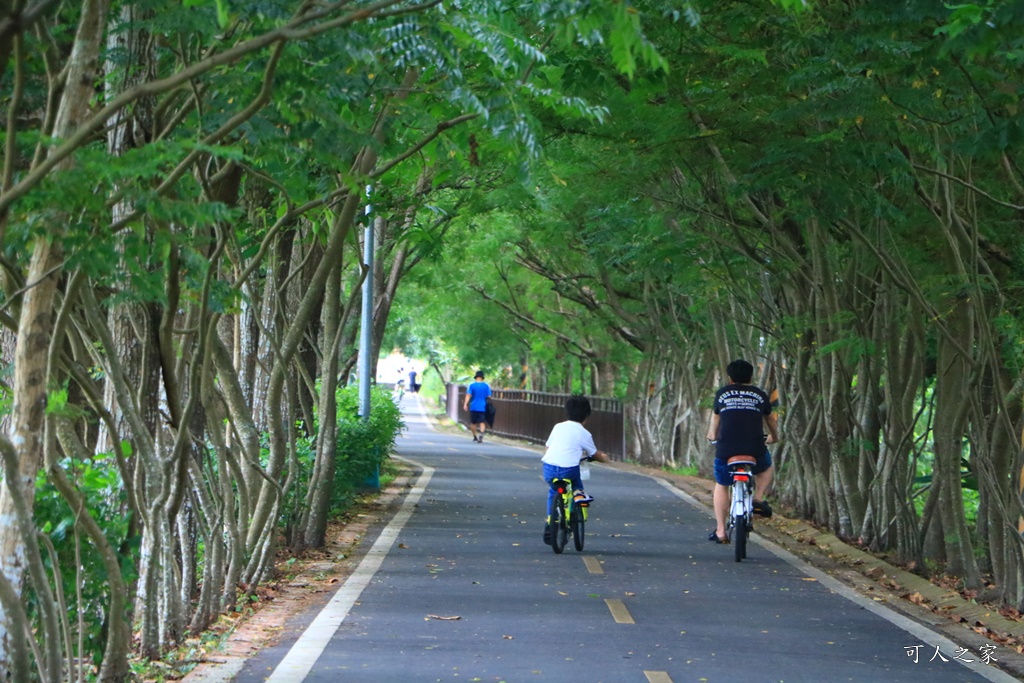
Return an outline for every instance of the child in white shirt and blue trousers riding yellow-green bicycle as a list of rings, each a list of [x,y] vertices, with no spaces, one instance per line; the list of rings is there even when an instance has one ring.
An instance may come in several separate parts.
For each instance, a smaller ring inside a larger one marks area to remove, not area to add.
[[[572,482],[572,498],[577,503],[587,504],[594,500],[584,493],[580,461],[586,458],[606,463],[609,458],[607,454],[597,450],[593,435],[584,427],[590,412],[590,401],[586,396],[569,396],[565,401],[568,420],[555,425],[548,436],[548,450],[541,458],[544,480],[548,482],[548,519],[551,518],[551,506],[555,500],[555,489],[551,487],[551,482],[555,479],[568,479]],[[544,542],[551,544],[551,529],[547,522],[544,525]]]

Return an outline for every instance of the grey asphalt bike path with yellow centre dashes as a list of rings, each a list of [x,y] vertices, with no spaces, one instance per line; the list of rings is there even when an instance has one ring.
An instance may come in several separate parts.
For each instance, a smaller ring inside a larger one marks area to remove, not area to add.
[[[402,405],[420,487],[288,654],[237,680],[1015,680],[762,545],[734,562],[703,540],[708,512],[650,477],[594,467],[586,548],[555,555],[537,453],[434,432],[415,396]]]

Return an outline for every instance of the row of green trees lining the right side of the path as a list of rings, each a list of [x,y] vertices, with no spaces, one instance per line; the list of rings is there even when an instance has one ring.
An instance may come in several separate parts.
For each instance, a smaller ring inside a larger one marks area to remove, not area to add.
[[[527,330],[505,362],[529,356],[535,388],[624,396],[632,457],[705,471],[710,395],[755,360],[787,505],[1019,605],[1019,8],[672,18],[645,24],[665,68],[633,78],[553,52],[546,73],[606,114],[540,118],[545,172],[466,217],[502,242],[424,317]]]

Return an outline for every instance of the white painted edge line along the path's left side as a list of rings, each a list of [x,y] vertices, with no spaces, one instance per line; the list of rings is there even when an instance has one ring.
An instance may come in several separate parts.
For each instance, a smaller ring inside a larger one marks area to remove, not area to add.
[[[397,514],[391,519],[380,537],[374,543],[373,548],[367,553],[359,566],[355,568],[352,575],[338,589],[331,601],[327,603],[321,613],[316,615],[313,623],[299,636],[299,640],[288,651],[285,658],[281,660],[278,668],[273,670],[270,677],[266,679],[269,683],[298,683],[304,681],[312,670],[316,659],[327,648],[331,638],[338,631],[349,610],[359,595],[370,585],[370,581],[380,569],[381,563],[387,557],[391,547],[394,545],[398,532],[401,531],[406,522],[413,515],[413,510],[420,502],[420,498],[430,483],[430,477],[434,474],[434,468],[422,465],[414,460],[392,456],[397,460],[409,463],[420,468],[423,472],[416,480],[416,485],[409,493],[401,504]]]

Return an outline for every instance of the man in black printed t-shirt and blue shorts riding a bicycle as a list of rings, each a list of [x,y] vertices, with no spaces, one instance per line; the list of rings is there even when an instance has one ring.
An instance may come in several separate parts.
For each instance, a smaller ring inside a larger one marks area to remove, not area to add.
[[[732,456],[754,456],[758,464],[754,467],[754,513],[771,517],[772,510],[764,500],[771,487],[774,470],[771,454],[766,443],[778,441],[778,421],[771,410],[771,399],[760,387],[751,382],[754,366],[737,359],[725,369],[729,384],[715,394],[714,414],[708,428],[708,440],[715,441],[715,524],[708,540],[715,543],[729,543],[725,530],[729,516],[729,487],[732,477],[727,462]],[[768,430],[767,438],[765,429]]]

